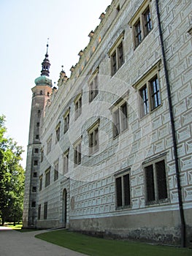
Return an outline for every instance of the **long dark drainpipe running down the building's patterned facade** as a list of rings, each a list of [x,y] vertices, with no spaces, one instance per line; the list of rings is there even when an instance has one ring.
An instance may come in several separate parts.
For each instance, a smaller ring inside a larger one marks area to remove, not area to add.
[[[161,51],[162,51],[163,63],[164,63],[166,89],[167,89],[168,102],[169,102],[169,115],[170,115],[170,121],[171,121],[171,126],[172,126],[174,165],[175,165],[175,172],[176,172],[176,177],[177,177],[177,192],[178,192],[178,199],[179,199],[179,206],[180,206],[181,246],[185,247],[185,217],[184,217],[184,211],[183,211],[182,188],[180,185],[180,167],[179,167],[179,159],[178,159],[178,154],[177,154],[177,138],[176,138],[176,131],[175,131],[175,126],[174,126],[172,95],[171,95],[171,89],[170,89],[170,83],[169,83],[168,70],[166,67],[164,39],[163,39],[163,34],[162,34],[162,29],[161,29],[161,20],[160,20],[159,8],[158,8],[158,0],[155,0],[155,3],[156,3],[156,11],[157,11],[157,17],[158,17],[158,31],[159,31],[160,41],[161,41]]]

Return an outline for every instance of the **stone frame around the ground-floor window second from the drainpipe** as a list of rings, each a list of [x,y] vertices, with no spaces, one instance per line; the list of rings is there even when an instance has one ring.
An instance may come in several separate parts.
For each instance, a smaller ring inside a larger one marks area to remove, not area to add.
[[[125,177],[128,177],[128,188],[125,187]],[[120,181],[120,186],[118,181]],[[119,192],[118,189],[120,189]],[[128,203],[126,203],[126,200],[128,200]],[[115,173],[115,209],[124,208],[131,208],[131,168]]]

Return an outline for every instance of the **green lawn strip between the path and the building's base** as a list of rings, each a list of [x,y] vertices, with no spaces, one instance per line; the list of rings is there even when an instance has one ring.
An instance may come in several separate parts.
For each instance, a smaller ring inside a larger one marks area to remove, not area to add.
[[[192,254],[192,250],[187,248],[95,238],[69,230],[51,231],[36,237],[92,256],[191,256]]]

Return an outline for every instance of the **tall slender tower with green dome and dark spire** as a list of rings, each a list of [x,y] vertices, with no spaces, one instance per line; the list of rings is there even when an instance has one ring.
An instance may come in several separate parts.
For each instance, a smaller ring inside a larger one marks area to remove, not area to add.
[[[45,105],[52,93],[52,80],[49,77],[50,61],[48,59],[48,44],[42,71],[35,80],[32,90],[31,119],[29,124],[28,148],[26,160],[25,196],[23,203],[23,227],[35,227],[37,221],[39,167],[43,154],[41,146],[40,127],[44,116]]]

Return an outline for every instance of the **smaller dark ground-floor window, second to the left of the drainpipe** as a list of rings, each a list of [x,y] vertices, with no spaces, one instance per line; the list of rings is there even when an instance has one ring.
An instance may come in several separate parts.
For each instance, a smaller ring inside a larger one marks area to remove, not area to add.
[[[117,208],[126,208],[131,206],[130,190],[130,170],[125,170],[121,174],[115,175],[116,188],[116,206]]]

